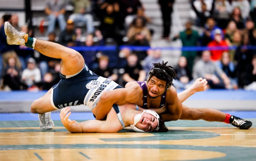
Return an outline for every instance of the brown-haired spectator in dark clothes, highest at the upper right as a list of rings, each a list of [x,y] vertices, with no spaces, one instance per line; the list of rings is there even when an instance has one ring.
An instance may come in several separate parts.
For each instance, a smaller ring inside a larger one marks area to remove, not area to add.
[[[234,21],[238,29],[244,28],[244,18],[242,17],[241,9],[239,7],[233,8],[230,21]]]

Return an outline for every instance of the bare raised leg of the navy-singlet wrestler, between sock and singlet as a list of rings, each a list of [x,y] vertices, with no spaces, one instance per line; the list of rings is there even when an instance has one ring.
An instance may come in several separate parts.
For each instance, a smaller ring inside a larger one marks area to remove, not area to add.
[[[36,40],[34,49],[45,56],[62,59],[60,72],[63,75],[74,75],[84,67],[84,59],[80,53],[60,44]]]

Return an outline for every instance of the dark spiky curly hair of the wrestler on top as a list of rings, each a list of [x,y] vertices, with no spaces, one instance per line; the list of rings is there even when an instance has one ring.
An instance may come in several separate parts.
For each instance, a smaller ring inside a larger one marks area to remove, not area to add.
[[[166,81],[166,90],[173,85],[173,79],[176,77],[175,68],[170,65],[166,65],[168,63],[164,61],[162,63],[153,63],[154,68],[152,68],[147,74],[147,82],[152,76],[155,76],[158,79]]]

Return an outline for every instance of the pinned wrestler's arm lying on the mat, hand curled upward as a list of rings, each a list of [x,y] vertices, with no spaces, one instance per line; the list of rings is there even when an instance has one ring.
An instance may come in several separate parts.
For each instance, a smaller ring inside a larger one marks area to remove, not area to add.
[[[62,124],[71,133],[116,133],[119,128],[111,128],[106,124],[106,121],[88,120],[81,123],[69,119],[71,112],[70,107],[65,107],[61,110],[59,116]]]

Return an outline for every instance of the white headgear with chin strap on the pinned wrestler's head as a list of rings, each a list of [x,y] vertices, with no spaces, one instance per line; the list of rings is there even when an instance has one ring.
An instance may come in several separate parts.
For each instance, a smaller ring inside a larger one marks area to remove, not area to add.
[[[135,126],[135,125],[140,121],[142,115],[143,115],[145,112],[151,114],[151,115],[154,116],[154,117],[156,117],[156,119],[157,119],[157,128],[156,128],[155,130],[156,130],[156,131],[159,130],[159,120],[160,120],[160,117],[159,117],[159,115],[158,115],[155,111],[153,111],[153,110],[143,110],[142,113],[136,114],[136,116],[135,116],[134,119],[133,119],[134,123],[133,123],[133,125],[130,125],[130,127],[131,127],[135,132],[137,132],[137,133],[145,133],[145,131],[143,131],[143,130],[141,130],[141,129],[139,129],[139,128],[137,128],[137,127]],[[154,131],[154,130],[152,130],[152,131]],[[150,131],[147,131],[147,132],[150,132]]]

